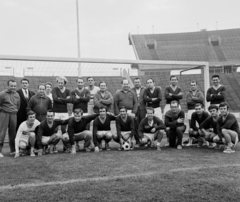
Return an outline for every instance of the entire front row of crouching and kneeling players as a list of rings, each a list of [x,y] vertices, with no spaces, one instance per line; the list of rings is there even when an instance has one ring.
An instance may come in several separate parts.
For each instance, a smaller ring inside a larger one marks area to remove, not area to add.
[[[93,140],[94,151],[111,150],[109,142],[113,139],[119,143],[119,150],[134,149],[133,138],[139,139],[141,146],[148,148],[156,146],[161,151],[162,138],[168,137],[169,146],[182,149],[182,138],[186,130],[184,124],[185,113],[179,109],[177,101],[172,101],[171,109],[165,114],[165,123],[154,116],[154,109],[147,108],[146,117],[140,122],[136,130],[134,118],[127,113],[125,107],[120,108],[120,114],[114,116],[106,108],[99,109],[99,114],[83,116],[81,109],[75,109],[73,117],[67,120],[54,119],[54,112],[47,112],[46,120],[41,123],[35,119],[33,111],[28,112],[27,121],[23,122],[15,139],[15,157],[25,154],[29,149],[30,155],[35,156],[36,149],[39,156],[45,153],[57,152],[54,147],[62,140],[64,149],[75,154],[79,150],[79,142],[84,141],[84,149],[91,151]],[[236,117],[229,113],[226,103],[218,106],[211,105],[205,112],[203,105],[195,105],[195,112],[191,115],[189,140],[186,146],[198,142],[198,146],[208,145],[218,148],[224,146],[225,153],[235,152],[234,146],[239,141],[240,130]],[[220,114],[218,113],[220,111]],[[87,130],[87,125],[93,121],[93,130]],[[111,121],[116,122],[117,133],[111,132]],[[66,125],[65,133],[61,134],[60,125]],[[105,142],[103,148],[102,142]],[[155,144],[156,141],[156,144]]]

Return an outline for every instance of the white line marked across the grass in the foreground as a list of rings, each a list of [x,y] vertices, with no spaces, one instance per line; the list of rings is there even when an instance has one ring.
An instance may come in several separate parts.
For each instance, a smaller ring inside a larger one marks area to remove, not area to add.
[[[41,187],[41,186],[51,186],[51,185],[64,185],[64,184],[72,184],[78,182],[92,182],[92,181],[108,181],[108,180],[118,180],[125,178],[137,178],[141,176],[150,176],[155,174],[164,174],[171,172],[188,172],[188,171],[197,171],[201,169],[216,169],[216,168],[227,168],[227,167],[240,167],[240,164],[224,164],[224,165],[214,165],[214,166],[198,166],[198,167],[190,167],[190,168],[177,168],[169,171],[160,171],[160,172],[146,172],[139,174],[128,174],[128,175],[119,175],[119,176],[106,176],[106,177],[93,177],[93,178],[79,178],[72,179],[67,181],[52,181],[52,182],[40,182],[37,184],[34,183],[26,183],[26,184],[18,184],[18,185],[5,185],[0,186],[0,191],[4,191],[7,189],[19,189],[19,188],[32,188],[32,187]]]

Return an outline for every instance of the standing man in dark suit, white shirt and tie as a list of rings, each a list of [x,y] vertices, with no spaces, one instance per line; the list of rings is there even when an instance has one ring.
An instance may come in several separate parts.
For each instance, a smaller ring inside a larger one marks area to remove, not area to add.
[[[29,86],[29,80],[28,79],[23,78],[21,80],[21,85],[22,85],[22,88],[17,90],[17,93],[20,96],[20,108],[19,108],[18,113],[17,113],[17,128],[16,128],[17,130],[18,130],[20,124],[23,121],[27,120],[27,110],[26,110],[26,108],[28,106],[28,102],[29,102],[30,98],[35,95],[35,93],[33,91],[30,91],[28,89],[28,86]]]

